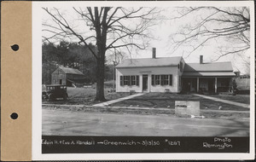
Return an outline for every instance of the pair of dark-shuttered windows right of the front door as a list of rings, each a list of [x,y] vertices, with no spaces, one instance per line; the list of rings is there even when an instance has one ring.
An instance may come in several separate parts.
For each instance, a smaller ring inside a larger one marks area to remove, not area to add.
[[[152,85],[172,85],[172,75],[152,75]]]

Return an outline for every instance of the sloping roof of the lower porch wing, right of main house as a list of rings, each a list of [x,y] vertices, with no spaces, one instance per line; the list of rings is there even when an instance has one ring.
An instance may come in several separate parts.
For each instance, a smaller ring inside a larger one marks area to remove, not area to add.
[[[184,72],[233,72],[231,62],[186,63]]]

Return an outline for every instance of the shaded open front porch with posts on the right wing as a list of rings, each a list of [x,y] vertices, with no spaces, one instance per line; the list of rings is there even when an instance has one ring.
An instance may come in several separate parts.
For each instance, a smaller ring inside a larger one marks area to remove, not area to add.
[[[230,90],[231,78],[194,77],[182,78],[182,92],[217,94]]]

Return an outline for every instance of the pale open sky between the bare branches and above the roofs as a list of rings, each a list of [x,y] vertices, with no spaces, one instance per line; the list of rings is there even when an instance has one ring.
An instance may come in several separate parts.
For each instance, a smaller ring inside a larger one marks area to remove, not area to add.
[[[69,3],[70,4],[70,3]],[[130,4],[131,5],[131,4]],[[43,5],[44,6],[44,5]],[[48,3],[45,5],[48,7],[48,9],[52,9],[53,7],[56,7],[57,9],[60,9],[61,14],[63,17],[65,17],[69,24],[74,26],[74,29],[76,31],[81,32],[81,34],[91,34],[92,32],[86,28],[84,24],[84,20],[81,20],[81,18],[76,14],[73,10],[73,6],[77,9],[79,7],[86,7],[87,5],[65,5],[64,3],[58,4],[58,3]],[[131,5],[133,7],[134,5]],[[151,34],[153,35],[153,39],[150,39],[150,42],[148,44],[147,49],[143,50],[131,50],[131,54],[126,49],[122,49],[122,52],[126,53],[131,58],[150,58],[152,57],[152,48],[156,48],[156,56],[157,57],[172,57],[172,56],[183,56],[185,62],[191,63],[191,62],[199,62],[200,55],[203,55],[204,62],[210,62],[214,58],[217,57],[218,48],[219,45],[227,44],[224,39],[220,41],[212,40],[208,43],[206,43],[203,47],[196,49],[195,52],[189,55],[186,51],[189,50],[189,47],[181,46],[176,51],[172,51],[172,43],[171,43],[171,35],[173,33],[177,33],[183,26],[186,26],[186,24],[193,23],[198,16],[203,16],[204,14],[209,13],[199,13],[198,15],[189,15],[182,19],[175,19],[172,20],[173,17],[178,16],[177,13],[177,6],[168,6],[164,5],[165,7],[161,6],[159,9],[162,10],[160,13],[164,19],[163,20],[157,20],[157,25],[150,27]],[[166,7],[167,6],[167,7]],[[49,24],[51,26],[54,26],[55,23],[51,20],[51,17],[49,14],[47,14],[42,9],[42,23]],[[130,26],[129,23],[136,23],[134,22],[127,22],[127,26]],[[212,26],[218,26],[216,24],[212,24]],[[44,26],[43,26],[44,29]],[[42,32],[43,36],[49,37],[49,32]],[[73,42],[76,42],[76,39],[71,40]],[[133,48],[134,49],[134,48]],[[247,50],[247,52],[244,54],[247,58],[249,55],[253,55],[254,53],[253,49]],[[111,55],[112,52],[108,51],[107,56]],[[241,71],[241,73],[246,73],[247,69],[245,68],[245,64],[242,61],[241,57],[238,55],[227,55],[222,58],[220,58],[218,61],[231,61],[232,65],[235,70]]]

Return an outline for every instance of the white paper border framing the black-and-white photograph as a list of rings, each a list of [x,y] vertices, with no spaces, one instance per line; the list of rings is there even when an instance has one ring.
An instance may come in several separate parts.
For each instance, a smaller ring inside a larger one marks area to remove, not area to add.
[[[234,2],[201,2],[201,1],[172,1],[172,2],[65,2],[71,6],[250,6],[251,14],[251,100],[250,100],[250,153],[61,153],[42,154],[42,108],[41,108],[41,84],[42,84],[42,39],[41,20],[42,6],[61,6],[63,2],[32,2],[32,160],[108,160],[108,159],[254,159],[254,5],[253,1]]]

